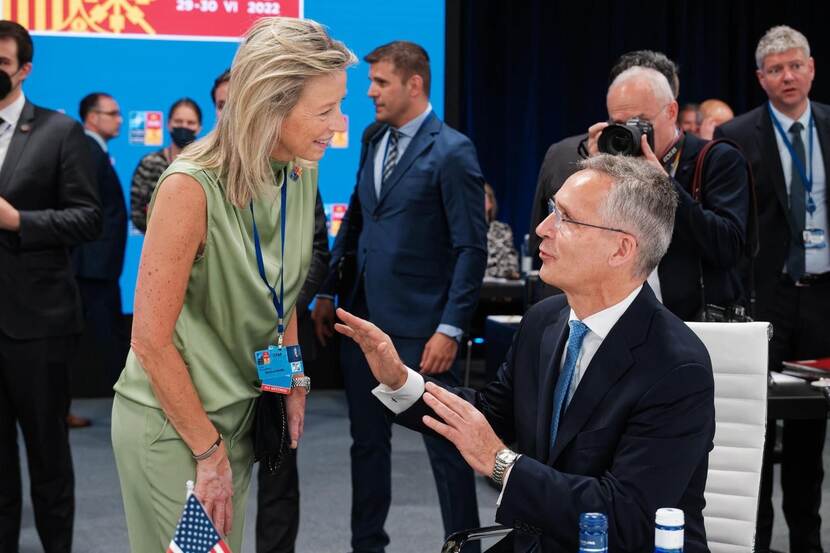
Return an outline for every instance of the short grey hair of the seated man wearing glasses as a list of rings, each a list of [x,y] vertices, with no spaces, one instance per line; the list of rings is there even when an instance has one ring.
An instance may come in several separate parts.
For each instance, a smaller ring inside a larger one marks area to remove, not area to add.
[[[637,238],[635,275],[647,277],[671,243],[677,210],[671,179],[640,157],[600,154],[583,160],[579,167],[611,178],[611,191],[600,206],[600,216],[604,225]]]

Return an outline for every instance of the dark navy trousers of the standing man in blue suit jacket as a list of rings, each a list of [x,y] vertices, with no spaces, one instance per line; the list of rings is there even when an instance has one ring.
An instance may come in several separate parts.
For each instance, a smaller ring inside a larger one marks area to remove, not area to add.
[[[352,312],[366,317],[365,300],[362,294],[358,296]],[[426,340],[393,336],[392,341],[403,362],[417,367]],[[340,351],[352,434],[351,545],[355,553],[382,552],[389,544],[389,535],[383,526],[392,502],[392,420],[371,393],[377,381],[360,348],[352,340],[343,339]],[[439,375],[438,379],[459,385],[452,371]],[[472,469],[449,441],[424,436],[424,444],[438,488],[444,536],[480,526]],[[430,531],[424,529],[425,533]],[[479,550],[480,545],[475,543],[464,551]]]

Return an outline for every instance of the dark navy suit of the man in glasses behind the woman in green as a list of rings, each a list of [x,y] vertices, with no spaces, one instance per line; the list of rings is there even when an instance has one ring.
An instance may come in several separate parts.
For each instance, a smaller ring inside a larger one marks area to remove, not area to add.
[[[86,140],[95,167],[103,229],[97,240],[80,244],[72,250],[72,268],[81,291],[85,332],[104,366],[109,388],[121,374],[127,356],[128,338],[118,285],[127,243],[127,205],[109,154],[91,136],[87,136]]]

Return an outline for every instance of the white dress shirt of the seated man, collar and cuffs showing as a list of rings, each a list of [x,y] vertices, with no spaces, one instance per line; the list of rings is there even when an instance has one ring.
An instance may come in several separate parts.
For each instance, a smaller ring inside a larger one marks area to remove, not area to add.
[[[605,337],[608,336],[608,333],[611,332],[611,329],[614,328],[614,325],[617,324],[617,321],[620,320],[623,313],[631,306],[634,300],[637,298],[637,294],[640,293],[640,290],[643,289],[643,286],[640,285],[635,288],[628,296],[626,296],[622,301],[612,305],[611,307],[607,307],[602,311],[594,313],[585,319],[582,320],[582,323],[588,327],[588,332],[585,334],[585,337],[582,341],[582,348],[579,351],[579,357],[576,360],[576,368],[574,370],[574,379],[571,381],[571,387],[568,391],[568,399],[566,402],[566,406],[570,403],[571,398],[573,397],[576,388],[579,386],[579,382],[585,376],[585,371],[588,369],[588,365],[591,364],[591,360],[596,355],[597,351],[599,350],[600,346],[602,345],[603,340]],[[574,310],[571,309],[571,313],[568,317],[569,321],[576,320],[576,313]],[[570,338],[568,338],[570,341]],[[565,343],[565,350],[567,351],[568,344]],[[562,366],[565,364],[565,356],[562,356],[562,359],[559,361],[559,368],[562,369]],[[602,367],[594,367],[593,370],[602,370]],[[407,377],[406,382],[403,386],[398,388],[397,390],[393,390],[386,384],[379,384],[372,393],[378,398],[381,403],[383,403],[387,409],[395,413],[396,415],[403,413],[413,405],[415,402],[418,401],[422,395],[424,395],[424,377],[422,377],[417,372],[413,371],[409,367],[406,368]],[[553,396],[551,396],[551,401],[553,401]],[[567,407],[566,407],[567,409]],[[504,475],[504,480],[502,482],[502,489],[501,493],[499,494],[499,498],[496,501],[496,504],[501,503],[502,495],[504,495],[504,490],[507,489],[507,481],[510,478],[510,471],[512,470],[512,466],[507,470]]]

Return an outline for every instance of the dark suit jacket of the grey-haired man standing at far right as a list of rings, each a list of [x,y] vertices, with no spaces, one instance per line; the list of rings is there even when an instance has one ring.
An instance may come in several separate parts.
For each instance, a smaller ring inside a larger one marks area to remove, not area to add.
[[[824,165],[830,160],[830,106],[812,102]],[[758,308],[770,305],[775,284],[781,278],[789,251],[791,226],[789,197],[767,104],[759,106],[715,129],[716,137],[740,144],[752,166],[758,201],[760,251],[755,259]],[[830,209],[830,194],[827,195]]]

